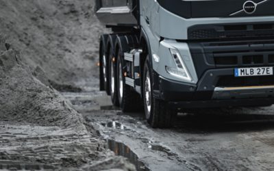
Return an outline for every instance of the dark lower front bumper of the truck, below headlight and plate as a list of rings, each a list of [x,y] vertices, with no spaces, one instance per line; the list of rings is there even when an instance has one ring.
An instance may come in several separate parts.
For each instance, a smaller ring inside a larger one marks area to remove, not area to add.
[[[221,77],[234,77],[234,68],[206,71],[197,84],[166,79],[154,73],[155,98],[176,108],[267,106],[274,104],[274,83],[256,86],[219,86]]]

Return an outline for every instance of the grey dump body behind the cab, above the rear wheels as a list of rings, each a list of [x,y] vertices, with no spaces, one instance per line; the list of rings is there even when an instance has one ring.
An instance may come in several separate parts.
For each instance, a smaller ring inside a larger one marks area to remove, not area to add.
[[[96,14],[108,26],[138,25],[135,0],[97,0]]]

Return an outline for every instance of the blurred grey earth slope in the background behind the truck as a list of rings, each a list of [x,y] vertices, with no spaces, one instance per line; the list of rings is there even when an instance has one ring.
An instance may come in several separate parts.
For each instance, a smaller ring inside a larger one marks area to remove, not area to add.
[[[75,80],[98,75],[98,39],[105,29],[94,6],[93,0],[0,0],[1,34],[23,62],[45,70],[54,88],[79,91]]]

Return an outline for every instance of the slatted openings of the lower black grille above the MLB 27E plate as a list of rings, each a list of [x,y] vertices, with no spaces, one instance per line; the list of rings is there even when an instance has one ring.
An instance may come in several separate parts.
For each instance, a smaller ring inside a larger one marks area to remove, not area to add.
[[[274,42],[247,41],[204,44],[206,59],[217,68],[274,64]]]

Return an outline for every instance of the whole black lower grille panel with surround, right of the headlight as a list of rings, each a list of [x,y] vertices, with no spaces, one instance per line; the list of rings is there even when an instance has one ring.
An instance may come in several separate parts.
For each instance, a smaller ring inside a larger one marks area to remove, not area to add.
[[[198,77],[214,68],[274,66],[274,38],[188,42]]]

